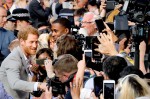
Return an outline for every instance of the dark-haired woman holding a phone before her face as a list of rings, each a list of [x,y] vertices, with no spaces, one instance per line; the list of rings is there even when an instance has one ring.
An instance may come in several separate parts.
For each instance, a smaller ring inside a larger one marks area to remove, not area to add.
[[[40,49],[36,53],[36,65],[32,65],[30,70],[33,72],[32,81],[46,82],[46,77],[54,77],[52,68],[53,54],[49,48]],[[31,93],[36,98],[45,99],[42,91],[33,91]]]

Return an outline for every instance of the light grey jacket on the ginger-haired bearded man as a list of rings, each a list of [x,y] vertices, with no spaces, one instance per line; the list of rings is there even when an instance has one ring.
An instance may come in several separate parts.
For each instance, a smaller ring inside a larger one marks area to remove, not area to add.
[[[2,62],[0,81],[14,99],[27,99],[34,90],[35,82],[28,82],[27,63],[21,48],[15,48]]]

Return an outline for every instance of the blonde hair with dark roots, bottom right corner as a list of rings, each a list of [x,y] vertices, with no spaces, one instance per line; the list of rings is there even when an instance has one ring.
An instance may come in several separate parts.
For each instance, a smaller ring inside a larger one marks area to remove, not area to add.
[[[147,82],[138,75],[130,74],[120,80],[121,86],[119,99],[135,99],[141,96],[150,96]]]

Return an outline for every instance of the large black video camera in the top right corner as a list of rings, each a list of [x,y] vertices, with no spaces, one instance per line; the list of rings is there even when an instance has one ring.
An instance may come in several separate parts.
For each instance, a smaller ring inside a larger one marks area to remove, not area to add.
[[[129,20],[139,23],[149,20],[149,0],[126,0],[125,2],[129,2],[126,9]]]

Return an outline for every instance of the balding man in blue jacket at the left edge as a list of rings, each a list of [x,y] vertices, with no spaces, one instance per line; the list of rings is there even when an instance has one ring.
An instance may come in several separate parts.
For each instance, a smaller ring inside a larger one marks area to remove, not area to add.
[[[10,32],[3,28],[7,19],[7,12],[3,7],[0,7],[0,65],[6,56],[10,53],[8,49],[9,44],[16,37],[13,32]]]

